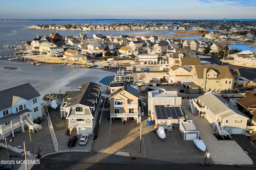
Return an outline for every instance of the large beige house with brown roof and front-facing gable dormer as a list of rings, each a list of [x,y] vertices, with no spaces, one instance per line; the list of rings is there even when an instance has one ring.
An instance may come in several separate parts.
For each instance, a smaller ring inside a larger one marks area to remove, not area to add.
[[[194,66],[190,71],[190,78],[200,87],[199,93],[215,90],[231,90],[233,75],[228,66]]]

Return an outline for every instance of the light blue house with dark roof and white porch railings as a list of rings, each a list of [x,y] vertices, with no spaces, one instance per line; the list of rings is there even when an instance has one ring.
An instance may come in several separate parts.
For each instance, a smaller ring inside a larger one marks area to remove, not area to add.
[[[0,138],[21,131],[28,127],[41,129],[33,120],[42,117],[40,94],[29,83],[0,91]]]

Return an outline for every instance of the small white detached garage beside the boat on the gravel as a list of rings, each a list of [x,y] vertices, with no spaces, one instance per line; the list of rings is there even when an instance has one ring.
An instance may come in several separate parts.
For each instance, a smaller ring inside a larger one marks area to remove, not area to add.
[[[191,141],[199,138],[199,131],[196,130],[192,121],[180,122],[180,133],[184,141]]]

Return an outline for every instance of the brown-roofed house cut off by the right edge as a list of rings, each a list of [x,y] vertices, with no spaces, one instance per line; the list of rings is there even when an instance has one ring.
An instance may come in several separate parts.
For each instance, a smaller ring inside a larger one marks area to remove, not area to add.
[[[256,125],[256,94],[246,93],[243,98],[236,99],[236,107],[250,118],[250,124]],[[254,129],[256,130],[256,129]]]

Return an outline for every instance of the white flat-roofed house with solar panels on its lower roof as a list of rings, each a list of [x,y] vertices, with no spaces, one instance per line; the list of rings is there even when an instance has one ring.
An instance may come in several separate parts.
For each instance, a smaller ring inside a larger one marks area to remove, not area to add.
[[[181,97],[176,91],[157,91],[148,92],[148,115],[155,121],[156,126],[164,129],[172,129],[185,120],[181,110]]]

